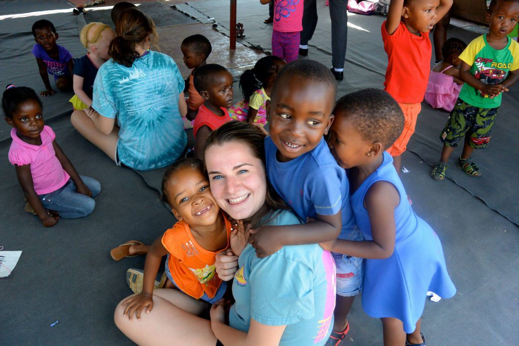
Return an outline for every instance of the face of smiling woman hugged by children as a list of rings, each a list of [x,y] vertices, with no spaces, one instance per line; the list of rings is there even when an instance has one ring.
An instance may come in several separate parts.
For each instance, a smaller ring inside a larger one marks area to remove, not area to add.
[[[267,193],[265,167],[246,144],[212,145],[205,160],[213,197],[230,217],[242,220],[260,210]]]

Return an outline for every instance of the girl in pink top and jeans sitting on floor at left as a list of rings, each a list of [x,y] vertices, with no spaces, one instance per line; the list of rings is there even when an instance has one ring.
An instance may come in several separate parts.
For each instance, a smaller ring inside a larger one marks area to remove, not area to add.
[[[101,191],[95,179],[80,176],[45,126],[42,101],[34,90],[8,85],[2,98],[5,120],[12,126],[9,162],[15,166],[25,197],[45,227],[59,217],[89,215],[92,197]]]

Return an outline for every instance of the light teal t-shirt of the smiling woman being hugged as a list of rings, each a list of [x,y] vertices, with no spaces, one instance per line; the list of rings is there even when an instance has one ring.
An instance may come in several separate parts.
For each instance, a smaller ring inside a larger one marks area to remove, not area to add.
[[[295,225],[282,211],[265,226]],[[229,325],[248,331],[251,318],[265,325],[286,325],[280,345],[323,345],[333,327],[335,262],[317,244],[284,246],[260,259],[251,244],[241,253],[233,282],[236,303]]]

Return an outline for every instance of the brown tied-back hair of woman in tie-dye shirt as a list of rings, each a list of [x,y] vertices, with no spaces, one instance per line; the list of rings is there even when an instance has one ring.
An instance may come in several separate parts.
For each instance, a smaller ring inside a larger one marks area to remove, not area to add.
[[[142,44],[149,36],[151,44],[156,46],[158,39],[155,23],[136,7],[131,7],[121,13],[115,27],[115,38],[108,48],[108,53],[118,64],[131,67],[139,53],[135,46]]]

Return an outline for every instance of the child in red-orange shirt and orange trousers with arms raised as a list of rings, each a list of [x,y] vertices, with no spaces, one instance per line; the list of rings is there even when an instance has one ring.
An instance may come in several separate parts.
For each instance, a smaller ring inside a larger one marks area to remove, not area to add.
[[[384,50],[388,54],[385,89],[404,112],[404,130],[387,150],[400,173],[401,155],[415,132],[424,100],[432,47],[429,31],[446,15],[453,0],[392,0],[382,24]]]

